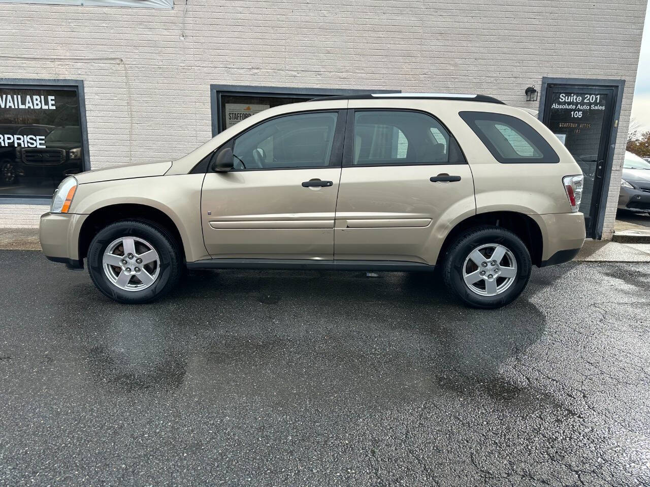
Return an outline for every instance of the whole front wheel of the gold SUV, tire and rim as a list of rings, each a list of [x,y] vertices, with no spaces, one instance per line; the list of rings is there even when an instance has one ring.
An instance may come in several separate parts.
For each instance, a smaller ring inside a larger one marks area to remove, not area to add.
[[[120,303],[147,303],[178,282],[181,258],[164,229],[125,220],[96,234],[88,248],[88,272],[98,289]]]

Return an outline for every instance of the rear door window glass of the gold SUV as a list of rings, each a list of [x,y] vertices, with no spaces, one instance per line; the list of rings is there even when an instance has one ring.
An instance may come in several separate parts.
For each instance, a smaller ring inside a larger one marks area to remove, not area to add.
[[[353,165],[461,162],[458,145],[432,116],[407,110],[354,112]]]

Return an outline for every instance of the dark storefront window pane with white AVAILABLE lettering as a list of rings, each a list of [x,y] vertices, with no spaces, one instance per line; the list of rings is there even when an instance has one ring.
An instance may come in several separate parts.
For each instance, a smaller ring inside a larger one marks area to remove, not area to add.
[[[0,195],[49,196],[85,170],[79,90],[0,86]]]

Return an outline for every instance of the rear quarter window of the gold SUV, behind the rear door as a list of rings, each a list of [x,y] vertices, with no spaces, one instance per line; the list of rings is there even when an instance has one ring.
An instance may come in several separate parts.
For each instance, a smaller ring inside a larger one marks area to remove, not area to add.
[[[517,117],[490,112],[460,112],[459,115],[502,164],[560,162],[545,138]]]

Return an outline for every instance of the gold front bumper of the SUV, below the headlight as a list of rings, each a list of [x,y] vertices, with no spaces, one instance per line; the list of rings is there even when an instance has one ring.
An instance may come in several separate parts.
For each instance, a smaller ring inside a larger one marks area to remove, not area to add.
[[[38,226],[43,253],[49,260],[64,262],[69,268],[83,268],[79,259],[79,231],[88,215],[44,213]]]

